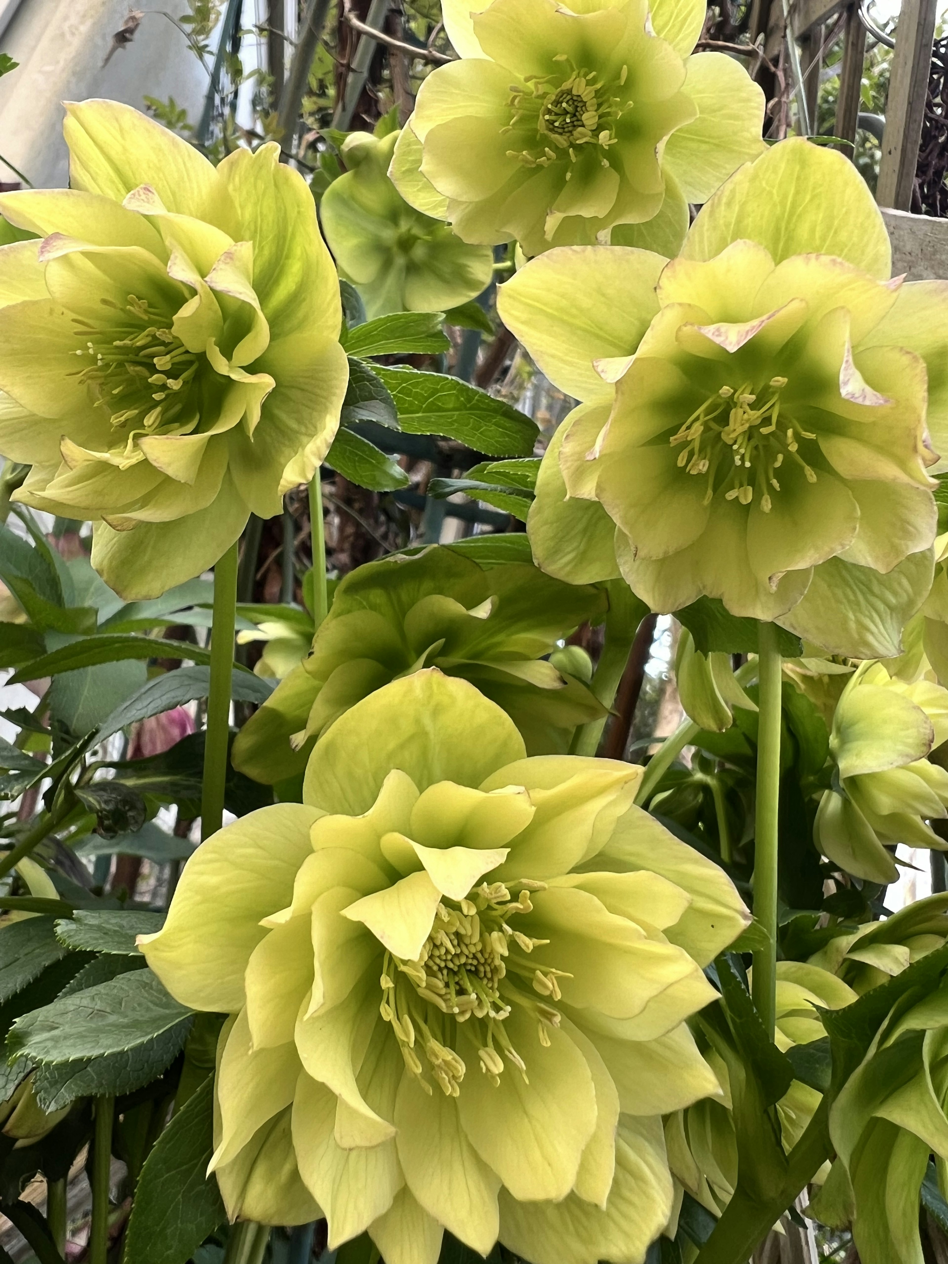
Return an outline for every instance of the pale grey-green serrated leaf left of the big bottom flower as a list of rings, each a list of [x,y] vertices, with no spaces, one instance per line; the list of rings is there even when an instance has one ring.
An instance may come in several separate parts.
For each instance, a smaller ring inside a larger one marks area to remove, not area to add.
[[[138,1049],[190,1020],[191,1010],[157,975],[137,969],[24,1014],[10,1028],[6,1049],[10,1058],[44,1066],[104,1058]]]

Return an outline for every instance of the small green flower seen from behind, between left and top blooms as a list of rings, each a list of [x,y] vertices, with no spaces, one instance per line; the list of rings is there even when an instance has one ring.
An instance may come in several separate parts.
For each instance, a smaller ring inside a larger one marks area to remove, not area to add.
[[[320,202],[339,274],[359,291],[369,320],[388,312],[449,311],[475,298],[493,274],[489,246],[461,241],[442,222],[444,215],[434,219],[410,206],[392,183],[388,167],[398,137],[348,137],[341,154],[349,169]]]

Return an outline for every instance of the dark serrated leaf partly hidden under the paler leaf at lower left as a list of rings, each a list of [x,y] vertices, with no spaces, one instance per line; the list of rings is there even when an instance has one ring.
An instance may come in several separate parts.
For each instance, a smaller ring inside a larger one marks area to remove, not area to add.
[[[135,971],[119,977],[135,978],[139,973]],[[37,1101],[43,1110],[52,1111],[62,1110],[77,1097],[118,1097],[143,1088],[167,1071],[181,1053],[191,1023],[188,1015],[167,1031],[119,1053],[56,1064],[39,1063],[33,1073]]]

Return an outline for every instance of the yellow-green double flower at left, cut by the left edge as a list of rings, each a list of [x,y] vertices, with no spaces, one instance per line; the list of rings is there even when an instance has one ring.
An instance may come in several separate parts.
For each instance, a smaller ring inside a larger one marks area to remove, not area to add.
[[[214,168],[112,101],[64,130],[72,188],[0,196],[43,235],[0,246],[0,451],[33,466],[15,499],[91,518],[104,579],[155,597],[329,449],[339,287],[277,145]]]

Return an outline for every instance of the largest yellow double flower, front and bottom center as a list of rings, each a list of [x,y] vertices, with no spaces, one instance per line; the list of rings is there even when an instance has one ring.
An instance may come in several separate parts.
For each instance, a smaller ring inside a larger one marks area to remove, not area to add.
[[[465,680],[353,707],[302,804],[188,861],[139,943],[221,1034],[229,1215],[368,1229],[435,1264],[442,1229],[536,1264],[641,1261],[672,1210],[661,1115],[717,1081],[685,1019],[748,921],[724,872],[632,805],[642,770],[526,757]]]

